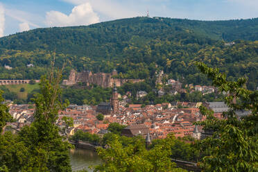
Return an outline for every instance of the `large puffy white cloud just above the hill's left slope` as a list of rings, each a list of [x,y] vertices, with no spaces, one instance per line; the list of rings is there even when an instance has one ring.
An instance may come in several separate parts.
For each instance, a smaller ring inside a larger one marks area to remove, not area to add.
[[[47,26],[80,26],[99,22],[98,15],[90,3],[75,6],[69,15],[59,11],[46,12],[45,23]]]

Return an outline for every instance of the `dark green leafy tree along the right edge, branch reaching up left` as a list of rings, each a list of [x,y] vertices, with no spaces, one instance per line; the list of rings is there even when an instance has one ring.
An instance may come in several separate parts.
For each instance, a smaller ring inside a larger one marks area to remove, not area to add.
[[[196,65],[209,78],[219,92],[228,92],[225,103],[230,107],[224,112],[225,119],[216,119],[214,112],[200,107],[206,116],[197,124],[204,130],[212,130],[212,137],[198,141],[195,145],[206,155],[200,162],[205,171],[258,171],[258,92],[246,89],[246,78],[235,82],[227,81],[225,74],[212,69],[202,62]],[[239,117],[236,112],[246,110],[250,114]]]

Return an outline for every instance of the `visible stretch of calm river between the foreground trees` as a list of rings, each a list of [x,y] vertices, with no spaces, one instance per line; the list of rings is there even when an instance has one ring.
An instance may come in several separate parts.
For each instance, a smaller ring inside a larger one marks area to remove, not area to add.
[[[101,163],[100,157],[94,152],[94,150],[86,150],[75,148],[70,150],[71,169],[78,171],[82,169],[88,169],[89,166],[96,166]]]

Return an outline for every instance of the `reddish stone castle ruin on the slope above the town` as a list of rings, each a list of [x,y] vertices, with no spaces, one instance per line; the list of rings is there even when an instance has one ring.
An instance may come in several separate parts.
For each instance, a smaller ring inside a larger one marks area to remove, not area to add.
[[[107,73],[97,73],[94,74],[92,71],[82,71],[76,72],[74,69],[70,71],[69,79],[63,80],[62,85],[76,85],[76,83],[85,83],[89,85],[99,85],[101,87],[112,87],[117,85],[121,87],[124,83],[139,83],[144,80],[141,79],[123,79],[123,78],[112,78],[112,76],[117,76],[117,70],[113,70],[111,74]]]

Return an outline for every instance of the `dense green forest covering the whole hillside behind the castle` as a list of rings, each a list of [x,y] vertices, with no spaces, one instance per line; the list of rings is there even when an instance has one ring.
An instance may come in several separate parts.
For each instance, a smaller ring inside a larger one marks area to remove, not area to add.
[[[0,38],[0,78],[38,79],[55,56],[57,67],[67,62],[64,78],[72,68],[117,69],[119,78],[153,78],[162,69],[169,78],[209,85],[192,65],[198,60],[218,67],[229,80],[247,76],[248,88],[255,89],[257,40],[258,19],[205,22],[135,17],[90,26],[37,28]],[[31,63],[35,67],[26,67]]]

